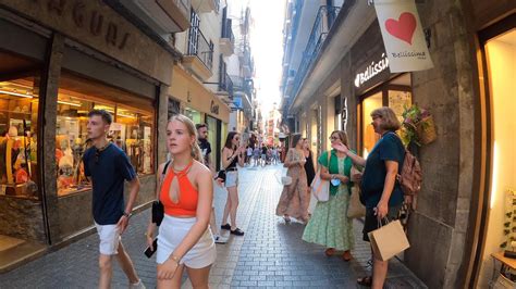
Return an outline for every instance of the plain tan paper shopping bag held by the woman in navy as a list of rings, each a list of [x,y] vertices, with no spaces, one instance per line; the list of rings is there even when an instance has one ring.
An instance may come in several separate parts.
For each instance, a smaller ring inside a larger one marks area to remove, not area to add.
[[[410,247],[398,219],[370,231],[368,236],[374,255],[381,261],[388,261]]]

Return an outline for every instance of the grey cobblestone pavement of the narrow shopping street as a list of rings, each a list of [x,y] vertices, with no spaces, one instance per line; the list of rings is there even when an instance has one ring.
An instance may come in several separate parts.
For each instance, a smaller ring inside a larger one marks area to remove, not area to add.
[[[230,237],[217,244],[217,262],[210,273],[211,288],[357,288],[355,279],[369,273],[369,247],[360,240],[363,224],[355,221],[354,260],[327,257],[323,248],[300,239],[304,226],[286,225],[275,216],[281,193],[278,179],[281,166],[241,169],[237,225],[244,237]],[[218,224],[222,218],[226,192],[216,189]],[[142,253],[150,210],[131,221],[123,242],[147,288],[156,286],[156,259]],[[225,236],[228,231],[223,231]],[[0,276],[0,288],[95,288],[97,287],[98,237],[93,234],[59,251]],[[191,288],[183,276],[183,288]],[[127,279],[115,265],[113,288],[127,288]],[[425,285],[397,260],[391,261],[385,288],[425,288]]]

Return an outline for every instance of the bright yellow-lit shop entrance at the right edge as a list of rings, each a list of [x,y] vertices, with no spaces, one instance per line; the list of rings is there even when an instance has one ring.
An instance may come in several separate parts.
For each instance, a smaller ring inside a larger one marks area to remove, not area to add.
[[[483,52],[486,60],[488,115],[488,169],[486,176],[488,192],[484,194],[483,234],[479,263],[478,288],[487,288],[490,282],[504,281],[516,286],[516,268],[500,272],[500,259],[492,255],[505,251],[516,252],[516,151],[514,131],[516,130],[516,28],[503,25],[505,30],[486,39]],[[489,32],[488,32],[489,33]],[[514,259],[509,259],[515,261]],[[494,266],[494,267],[493,267]],[[493,274],[496,273],[496,274]],[[504,276],[502,276],[504,275]],[[493,278],[494,277],[494,278]],[[514,287],[512,287],[514,288]]]

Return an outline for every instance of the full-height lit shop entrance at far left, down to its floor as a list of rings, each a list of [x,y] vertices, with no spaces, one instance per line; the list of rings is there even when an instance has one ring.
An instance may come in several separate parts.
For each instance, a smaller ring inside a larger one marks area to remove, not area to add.
[[[38,171],[41,65],[0,51],[0,273],[46,248]]]

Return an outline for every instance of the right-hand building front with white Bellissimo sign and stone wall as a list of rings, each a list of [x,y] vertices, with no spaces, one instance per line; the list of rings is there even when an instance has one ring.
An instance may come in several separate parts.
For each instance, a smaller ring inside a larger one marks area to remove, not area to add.
[[[284,90],[283,103],[312,149],[330,149],[330,133],[344,129],[363,156],[378,141],[370,126],[373,109],[390,106],[398,116],[413,103],[429,110],[438,138],[416,152],[423,184],[409,216],[410,249],[402,259],[430,288],[486,288],[493,281],[492,254],[516,237],[507,201],[516,187],[514,162],[507,161],[515,159],[507,146],[516,125],[507,113],[516,109],[509,97],[516,4],[416,4],[432,70],[390,73],[374,8],[345,1],[336,14],[325,9],[314,22],[312,34],[325,26],[320,34],[325,36],[322,42],[317,33],[310,36],[305,53],[311,60],[291,73],[293,88]],[[371,65],[377,73],[360,77]]]

